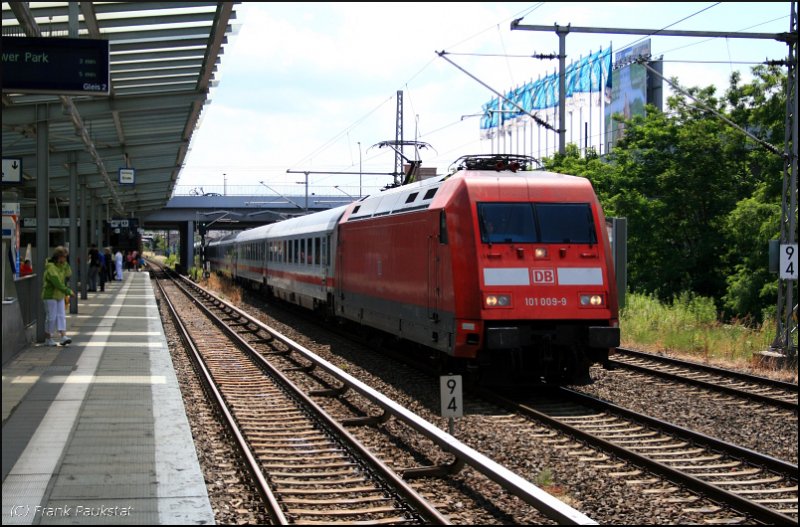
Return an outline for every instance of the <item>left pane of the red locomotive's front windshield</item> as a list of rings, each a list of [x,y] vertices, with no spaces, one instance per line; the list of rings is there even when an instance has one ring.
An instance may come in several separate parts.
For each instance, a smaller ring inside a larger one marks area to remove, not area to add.
[[[539,241],[530,203],[478,203],[478,223],[483,243]]]

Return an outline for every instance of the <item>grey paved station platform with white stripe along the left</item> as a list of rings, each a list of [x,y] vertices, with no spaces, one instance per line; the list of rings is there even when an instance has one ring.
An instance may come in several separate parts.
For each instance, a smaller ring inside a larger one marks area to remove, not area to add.
[[[3,525],[212,524],[149,273],[3,367]]]

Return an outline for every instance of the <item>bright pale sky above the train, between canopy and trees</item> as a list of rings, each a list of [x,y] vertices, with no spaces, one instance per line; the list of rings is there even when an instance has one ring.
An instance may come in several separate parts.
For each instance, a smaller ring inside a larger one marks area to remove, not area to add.
[[[500,148],[482,140],[479,127],[492,90],[505,93],[558,67],[532,57],[558,52],[555,31],[512,31],[520,17],[527,25],[779,33],[789,30],[789,12],[790,2],[243,2],[176,193],[301,195],[306,171],[311,193],[374,193],[393,181],[386,173],[394,151],[376,145],[395,139],[398,91],[404,139],[430,145],[416,153],[423,166],[446,173],[462,155]],[[571,33],[567,64],[642,38]],[[747,81],[755,63],[788,51],[772,40],[650,39],[665,77],[714,85],[719,94],[732,72]],[[552,155],[555,138],[536,134],[535,153]],[[415,157],[408,147],[405,154]]]

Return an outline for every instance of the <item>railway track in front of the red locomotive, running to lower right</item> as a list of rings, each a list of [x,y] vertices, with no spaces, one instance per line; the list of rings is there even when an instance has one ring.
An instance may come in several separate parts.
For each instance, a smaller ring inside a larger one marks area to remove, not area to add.
[[[690,489],[720,506],[764,523],[798,521],[797,465],[671,425],[606,401],[562,388],[548,397],[480,395],[671,481],[670,493]],[[611,466],[609,466],[611,467]],[[627,475],[646,482],[641,470]],[[655,480],[650,480],[655,482]],[[686,500],[690,507],[691,499]],[[714,514],[718,509],[704,508]],[[728,520],[729,521],[729,520]]]

